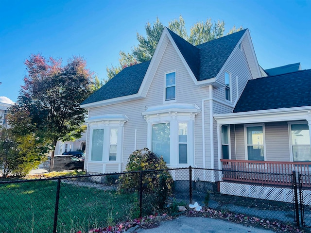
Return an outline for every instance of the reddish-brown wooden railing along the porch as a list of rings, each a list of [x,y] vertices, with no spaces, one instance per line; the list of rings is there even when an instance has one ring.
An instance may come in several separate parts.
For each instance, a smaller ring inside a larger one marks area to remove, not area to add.
[[[296,171],[311,175],[311,163],[221,159],[223,180],[247,183],[292,185],[291,174]],[[304,181],[311,186],[311,180]]]

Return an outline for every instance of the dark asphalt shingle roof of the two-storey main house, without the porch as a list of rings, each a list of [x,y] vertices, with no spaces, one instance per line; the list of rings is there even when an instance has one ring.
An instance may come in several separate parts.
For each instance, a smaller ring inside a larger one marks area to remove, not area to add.
[[[198,81],[215,78],[245,30],[193,46],[169,30],[175,44]],[[150,61],[126,67],[81,104],[129,96],[138,93]]]

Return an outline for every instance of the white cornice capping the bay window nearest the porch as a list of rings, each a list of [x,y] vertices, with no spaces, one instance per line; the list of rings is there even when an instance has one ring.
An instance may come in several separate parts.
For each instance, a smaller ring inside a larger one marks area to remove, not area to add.
[[[196,104],[172,103],[172,104],[163,104],[163,105],[148,107],[148,109],[141,114],[142,116],[147,116],[147,115],[169,113],[169,112],[198,114],[201,112],[201,109]]]

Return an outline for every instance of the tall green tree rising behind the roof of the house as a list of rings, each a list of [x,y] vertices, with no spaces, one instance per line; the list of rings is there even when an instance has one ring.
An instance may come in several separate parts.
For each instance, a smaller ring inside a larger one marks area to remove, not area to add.
[[[169,29],[189,41],[192,45],[203,44],[210,40],[222,37],[225,31],[224,21],[218,20],[217,22],[212,22],[211,18],[207,19],[206,22],[199,21],[192,25],[190,27],[190,35],[187,34],[185,21],[182,16],[179,16],[179,19],[173,19],[168,24]],[[136,63],[151,60],[163,29],[164,25],[160,22],[158,17],[156,17],[154,25],[147,22],[145,25],[146,36],[137,33],[138,46],[134,47],[130,53],[120,51],[118,66],[111,66],[110,68],[106,67],[108,80],[112,79],[123,68],[131,66],[131,64],[134,65]],[[242,26],[238,29],[234,26],[229,30],[228,34],[241,30]]]

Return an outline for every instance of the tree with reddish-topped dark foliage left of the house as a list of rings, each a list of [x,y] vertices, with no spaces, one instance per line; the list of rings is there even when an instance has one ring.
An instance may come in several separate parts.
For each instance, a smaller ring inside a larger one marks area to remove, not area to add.
[[[80,108],[80,103],[91,94],[93,85],[92,73],[82,57],[74,56],[65,66],[61,64],[61,60],[32,54],[25,61],[25,84],[10,108],[13,131],[43,138],[51,146],[52,159],[58,140],[81,136],[86,110]],[[27,122],[21,113],[28,113]]]

